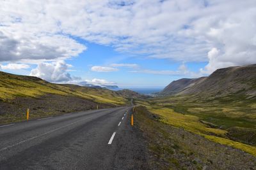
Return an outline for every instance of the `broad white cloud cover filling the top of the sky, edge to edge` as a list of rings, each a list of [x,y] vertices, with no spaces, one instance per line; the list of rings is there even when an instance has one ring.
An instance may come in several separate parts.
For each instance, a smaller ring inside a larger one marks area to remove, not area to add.
[[[255,0],[10,0],[0,6],[0,61],[65,60],[86,49],[81,38],[139,57],[208,61],[210,73],[255,63],[255,30]]]

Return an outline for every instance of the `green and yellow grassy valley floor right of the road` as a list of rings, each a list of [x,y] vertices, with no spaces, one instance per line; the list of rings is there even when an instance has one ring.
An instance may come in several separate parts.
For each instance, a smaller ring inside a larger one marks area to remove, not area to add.
[[[161,122],[239,148],[256,156],[255,102],[188,103],[189,97],[166,97],[136,101],[159,116]]]

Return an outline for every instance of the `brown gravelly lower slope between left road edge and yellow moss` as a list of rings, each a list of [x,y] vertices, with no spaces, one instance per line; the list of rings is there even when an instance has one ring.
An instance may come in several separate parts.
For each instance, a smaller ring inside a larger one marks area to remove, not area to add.
[[[30,110],[30,118],[48,117],[76,111],[111,108],[109,104],[100,104],[80,97],[47,94],[39,98],[17,97],[12,101],[0,101],[0,124],[26,120],[26,110]]]

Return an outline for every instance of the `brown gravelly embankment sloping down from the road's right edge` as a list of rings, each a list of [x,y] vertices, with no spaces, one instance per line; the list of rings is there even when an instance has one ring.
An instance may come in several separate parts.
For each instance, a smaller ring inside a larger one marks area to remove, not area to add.
[[[152,169],[256,169],[253,155],[163,124],[141,106],[134,120],[147,139]]]

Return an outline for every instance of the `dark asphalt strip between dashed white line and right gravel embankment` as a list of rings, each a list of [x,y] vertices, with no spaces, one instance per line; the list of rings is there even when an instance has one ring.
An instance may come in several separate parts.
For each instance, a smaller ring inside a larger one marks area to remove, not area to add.
[[[137,125],[131,126],[131,112],[116,136],[113,169],[150,169],[147,142]]]

